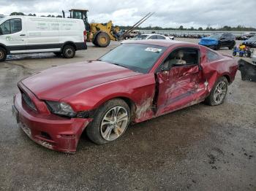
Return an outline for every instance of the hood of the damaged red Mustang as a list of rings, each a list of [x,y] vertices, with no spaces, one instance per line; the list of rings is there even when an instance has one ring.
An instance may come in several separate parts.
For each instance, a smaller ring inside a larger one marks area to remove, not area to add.
[[[37,98],[59,101],[94,86],[136,75],[140,73],[111,63],[89,61],[53,67],[21,82]]]

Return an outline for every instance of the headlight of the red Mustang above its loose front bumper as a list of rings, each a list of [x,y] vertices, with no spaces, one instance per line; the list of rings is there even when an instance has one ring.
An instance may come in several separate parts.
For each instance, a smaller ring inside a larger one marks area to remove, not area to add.
[[[50,112],[53,114],[64,115],[67,117],[75,117],[76,112],[73,111],[72,107],[69,104],[58,101],[45,101],[48,107],[50,108]]]

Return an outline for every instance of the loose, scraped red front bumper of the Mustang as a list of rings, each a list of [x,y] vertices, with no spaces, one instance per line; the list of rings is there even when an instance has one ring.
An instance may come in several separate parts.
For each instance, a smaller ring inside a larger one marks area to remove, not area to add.
[[[76,151],[80,135],[91,121],[34,111],[23,101],[21,93],[15,95],[12,113],[30,139],[48,149],[68,153]]]

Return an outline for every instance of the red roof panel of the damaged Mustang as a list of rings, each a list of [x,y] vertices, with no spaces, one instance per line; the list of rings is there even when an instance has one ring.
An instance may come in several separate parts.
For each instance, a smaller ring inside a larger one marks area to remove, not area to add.
[[[196,45],[198,44],[193,44],[189,42],[181,42],[181,41],[175,41],[175,40],[127,40],[122,42],[123,44],[150,44],[150,45],[156,45],[156,46],[162,46],[162,47],[170,47],[173,46],[174,44],[182,44],[182,45]]]

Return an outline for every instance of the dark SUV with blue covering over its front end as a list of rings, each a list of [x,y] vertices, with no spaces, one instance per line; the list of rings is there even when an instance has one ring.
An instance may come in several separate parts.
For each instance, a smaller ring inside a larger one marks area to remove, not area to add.
[[[200,39],[198,44],[214,50],[219,50],[221,47],[228,47],[231,50],[236,45],[236,41],[235,36],[231,33],[214,33]]]

